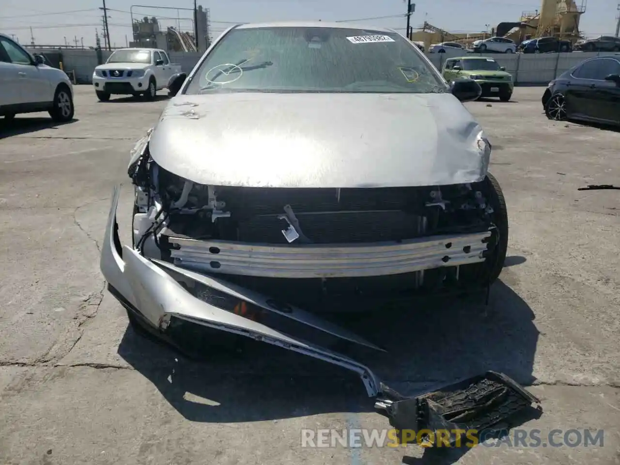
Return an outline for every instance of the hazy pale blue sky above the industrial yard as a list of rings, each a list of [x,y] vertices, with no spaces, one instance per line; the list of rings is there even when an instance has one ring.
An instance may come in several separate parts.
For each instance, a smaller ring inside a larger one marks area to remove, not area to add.
[[[20,0],[4,3],[0,9],[0,32],[15,35],[22,43],[30,43],[32,27],[35,43],[44,45],[95,44],[95,29],[102,32],[99,7],[102,0]],[[578,4],[582,0],[577,0]],[[412,25],[420,27],[424,20],[450,32],[480,32],[486,25],[516,21],[521,12],[540,9],[536,0],[414,0],[416,11]],[[53,7],[52,7],[53,4]],[[132,4],[176,6],[192,8],[193,0],[106,0],[110,11],[108,24],[112,45],[125,46],[125,37],[131,40]],[[347,20],[404,14],[404,0],[198,0],[210,9],[211,28],[217,36],[228,27],[228,22],[255,22],[268,20]],[[616,29],[618,0],[590,0],[582,17],[581,29],[587,35],[612,34]],[[192,30],[191,11],[133,7],[135,17],[145,15],[167,17],[161,26],[175,25]],[[180,20],[177,20],[180,16]],[[394,27],[404,32],[404,17],[365,20],[362,24]],[[489,29],[490,30],[490,29]]]

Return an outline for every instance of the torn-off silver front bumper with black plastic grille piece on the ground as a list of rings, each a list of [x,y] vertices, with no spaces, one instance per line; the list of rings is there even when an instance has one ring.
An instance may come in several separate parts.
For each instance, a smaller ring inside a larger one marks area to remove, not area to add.
[[[293,337],[262,321],[286,321],[301,327],[304,335],[319,333],[323,339],[355,343],[382,350],[371,342],[323,321],[314,314],[277,303],[260,293],[159,260],[149,260],[122,246],[118,237],[115,188],[107,220],[100,267],[108,289],[149,330],[166,339],[171,317],[205,327],[242,335],[303,353],[357,373],[369,397],[376,397],[376,411],[389,418],[401,433],[430,429],[486,428],[525,409],[538,399],[501,373],[489,372],[440,391],[405,397],[379,381],[367,366],[337,352]],[[217,303],[217,304],[215,304]],[[265,318],[263,318],[265,317]],[[413,436],[412,436],[413,432]],[[432,433],[433,437],[435,433]],[[453,443],[449,438],[449,443]]]

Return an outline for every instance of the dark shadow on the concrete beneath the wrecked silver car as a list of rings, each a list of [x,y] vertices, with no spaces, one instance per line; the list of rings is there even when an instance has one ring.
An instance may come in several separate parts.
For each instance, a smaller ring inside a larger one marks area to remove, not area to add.
[[[386,348],[387,353],[361,348],[347,355],[406,396],[487,370],[525,385],[534,381],[538,330],[533,311],[500,280],[488,305],[484,295],[475,294],[332,319]],[[266,343],[193,327],[200,342],[208,342],[200,361],[131,327],[118,347],[118,354],[188,420],[232,423],[373,411],[373,399],[353,373]]]

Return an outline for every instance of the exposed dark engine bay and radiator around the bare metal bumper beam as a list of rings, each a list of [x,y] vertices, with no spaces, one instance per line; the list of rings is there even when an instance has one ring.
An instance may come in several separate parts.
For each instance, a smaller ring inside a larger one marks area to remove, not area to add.
[[[284,247],[373,245],[494,230],[493,208],[482,187],[475,184],[401,188],[200,185],[158,166],[149,157],[148,147],[128,174],[136,193],[133,246],[145,257],[177,265],[174,255],[182,239]],[[489,250],[494,242],[489,240]],[[211,267],[205,265],[200,271],[221,272],[213,265],[217,262],[210,263]],[[460,268],[475,266],[363,278],[296,279],[294,285],[285,286],[283,278],[243,273],[226,279],[295,304],[303,293],[307,308],[309,294],[317,296],[316,305],[324,306],[326,295],[337,305],[337,296],[370,298],[384,296],[386,291],[396,296],[419,288],[435,290],[464,281]]]

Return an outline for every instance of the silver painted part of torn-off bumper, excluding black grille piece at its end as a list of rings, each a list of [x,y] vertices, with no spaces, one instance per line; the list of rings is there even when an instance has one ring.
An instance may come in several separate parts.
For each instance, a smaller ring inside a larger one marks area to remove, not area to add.
[[[120,188],[117,186],[113,192],[112,206],[105,230],[100,260],[101,271],[108,284],[154,327],[165,331],[167,318],[175,316],[206,327],[262,340],[355,371],[360,375],[368,396],[378,396],[381,389],[379,381],[370,368],[365,365],[327,348],[291,337],[260,322],[252,321],[203,301],[187,291],[168,271],[180,273],[187,279],[195,280],[219,292],[229,294],[233,298],[257,305],[263,310],[275,312],[275,309],[269,308],[264,296],[244,290],[239,286],[233,286],[222,280],[215,280],[199,273],[175,267],[169,263],[154,262],[144,258],[131,247],[121,246],[116,220],[119,195]],[[340,339],[378,349],[370,342],[324,322],[301,309],[294,307],[290,309],[291,311],[286,312],[286,316],[298,323],[307,325],[309,329],[319,329]]]

